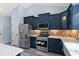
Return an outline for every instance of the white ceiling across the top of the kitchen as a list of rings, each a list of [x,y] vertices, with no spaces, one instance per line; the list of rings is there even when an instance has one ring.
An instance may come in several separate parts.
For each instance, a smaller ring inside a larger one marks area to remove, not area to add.
[[[0,3],[0,15],[6,16],[10,11],[16,8],[18,5],[22,5],[24,8],[28,8],[33,5],[50,6],[50,7],[68,7],[68,3]]]

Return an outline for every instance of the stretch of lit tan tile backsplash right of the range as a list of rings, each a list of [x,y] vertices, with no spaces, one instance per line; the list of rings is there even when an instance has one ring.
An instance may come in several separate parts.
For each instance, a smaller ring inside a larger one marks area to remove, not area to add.
[[[77,31],[78,30],[49,30],[49,34],[77,38]]]

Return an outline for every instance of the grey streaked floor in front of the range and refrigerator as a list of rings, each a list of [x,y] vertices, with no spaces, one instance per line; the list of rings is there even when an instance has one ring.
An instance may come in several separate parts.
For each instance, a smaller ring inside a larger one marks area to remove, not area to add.
[[[50,53],[50,52],[43,52],[37,49],[24,49],[24,51],[21,53],[22,56],[60,56],[56,53]]]

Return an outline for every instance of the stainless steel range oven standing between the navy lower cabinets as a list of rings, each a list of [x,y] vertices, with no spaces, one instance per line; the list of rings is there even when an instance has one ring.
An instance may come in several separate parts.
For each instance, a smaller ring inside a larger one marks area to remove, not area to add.
[[[47,37],[37,37],[36,47],[38,50],[48,52],[48,38]]]

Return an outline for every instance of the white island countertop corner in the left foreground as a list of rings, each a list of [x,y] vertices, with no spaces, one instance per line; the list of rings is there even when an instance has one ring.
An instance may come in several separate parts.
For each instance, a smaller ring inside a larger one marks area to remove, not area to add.
[[[0,43],[0,56],[16,56],[23,49]]]

